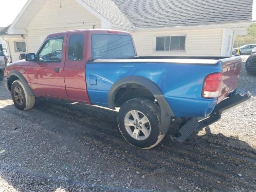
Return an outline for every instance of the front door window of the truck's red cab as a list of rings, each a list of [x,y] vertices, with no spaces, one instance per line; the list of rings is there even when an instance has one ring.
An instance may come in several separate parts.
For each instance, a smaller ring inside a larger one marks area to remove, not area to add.
[[[61,62],[63,38],[51,38],[39,51],[39,62]]]

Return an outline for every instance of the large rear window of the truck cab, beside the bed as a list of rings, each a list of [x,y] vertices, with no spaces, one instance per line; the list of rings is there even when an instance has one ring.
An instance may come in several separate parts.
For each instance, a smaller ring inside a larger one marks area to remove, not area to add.
[[[92,58],[114,59],[134,57],[132,38],[126,35],[93,34]]]

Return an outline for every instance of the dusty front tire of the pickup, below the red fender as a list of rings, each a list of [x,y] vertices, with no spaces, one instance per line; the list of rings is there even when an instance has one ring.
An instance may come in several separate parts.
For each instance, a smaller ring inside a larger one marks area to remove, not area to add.
[[[20,95],[17,94],[16,90],[20,91]],[[14,105],[19,110],[29,110],[34,107],[35,104],[35,96],[30,96],[22,84],[21,80],[15,80],[12,83],[11,88],[11,94],[12,94],[12,100],[14,102]],[[20,99],[17,99],[17,96],[20,96]],[[22,100],[22,102],[20,102]]]

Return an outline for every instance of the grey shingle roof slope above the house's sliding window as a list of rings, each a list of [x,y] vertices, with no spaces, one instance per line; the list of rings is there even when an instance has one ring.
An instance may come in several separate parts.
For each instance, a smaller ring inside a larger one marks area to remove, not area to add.
[[[253,0],[113,0],[113,2],[134,26],[140,28],[221,24],[252,20]],[[97,8],[95,9],[97,10]],[[111,12],[111,10],[107,8],[107,12]],[[116,13],[112,12],[112,14]],[[118,17],[118,15],[116,16]],[[116,22],[122,24],[120,18],[117,18]]]

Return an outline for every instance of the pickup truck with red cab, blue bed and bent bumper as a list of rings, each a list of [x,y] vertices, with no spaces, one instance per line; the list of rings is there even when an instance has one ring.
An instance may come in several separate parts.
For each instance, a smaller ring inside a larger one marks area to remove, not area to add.
[[[120,108],[122,136],[143,149],[156,146],[172,121],[180,122],[172,140],[183,142],[251,96],[236,94],[240,57],[141,57],[131,34],[117,30],[50,34],[25,58],[5,70],[18,109],[31,109],[36,97]]]

